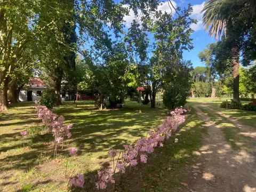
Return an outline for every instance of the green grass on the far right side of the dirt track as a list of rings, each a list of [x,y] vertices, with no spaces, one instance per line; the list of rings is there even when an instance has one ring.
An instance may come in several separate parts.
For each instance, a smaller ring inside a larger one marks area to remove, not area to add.
[[[237,109],[220,108],[220,103],[222,101],[226,101],[226,99],[207,99],[207,98],[189,99],[188,103],[190,103],[190,105],[206,103],[207,105],[209,105],[210,108],[221,111],[225,115],[229,115],[230,117],[237,118],[238,121],[256,128],[256,111],[244,111],[244,110],[237,110]],[[242,103],[249,103],[249,101],[242,101]]]

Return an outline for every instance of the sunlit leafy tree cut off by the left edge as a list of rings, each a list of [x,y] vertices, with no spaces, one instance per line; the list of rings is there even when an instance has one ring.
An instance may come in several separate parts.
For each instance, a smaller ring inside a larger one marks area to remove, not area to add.
[[[28,45],[38,46],[42,37],[58,38],[62,42],[59,28],[66,20],[66,8],[57,1],[0,1],[0,111],[5,110],[7,87],[11,75],[26,55]]]

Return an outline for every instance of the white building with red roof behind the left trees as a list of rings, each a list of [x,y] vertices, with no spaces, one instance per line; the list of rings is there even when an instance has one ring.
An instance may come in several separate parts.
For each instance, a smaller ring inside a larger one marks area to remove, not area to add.
[[[20,101],[38,101],[41,98],[42,91],[46,90],[44,82],[40,78],[30,78],[28,90],[22,89],[19,93]]]

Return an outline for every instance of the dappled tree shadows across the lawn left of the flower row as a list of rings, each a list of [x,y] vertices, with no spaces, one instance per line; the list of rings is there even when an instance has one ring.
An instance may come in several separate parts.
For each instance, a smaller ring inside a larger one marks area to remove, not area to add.
[[[108,149],[109,147],[123,148],[122,146],[131,140],[126,135],[131,135],[131,137],[137,139],[143,135],[145,136],[148,130],[158,126],[166,116],[167,110],[162,106],[151,109],[150,106],[140,107],[136,102],[128,103],[130,106],[124,109],[93,110],[92,115],[90,102],[78,103],[77,107],[75,107],[74,103],[65,102],[62,106],[53,109],[53,111],[58,115],[63,115],[65,122],[74,124],[71,129],[73,135],[70,140],[67,140],[68,145],[76,146],[81,151],[80,153],[91,154]],[[0,136],[2,142],[11,143],[10,146],[1,148],[1,151],[5,152],[17,148],[22,150],[22,142],[19,141],[21,139],[19,137],[20,127],[27,123],[32,123],[32,120],[28,118],[31,118],[31,115],[36,117],[36,110],[29,110],[28,114],[23,112],[19,114],[19,111],[15,114],[16,109],[22,111],[22,107],[24,109],[31,109],[25,104],[27,103],[18,103],[17,107],[13,106],[9,111],[10,114],[6,114],[3,117],[5,121],[12,117],[12,120],[19,120],[19,122],[1,125],[4,127],[13,126],[11,129],[17,131],[17,133],[3,133]],[[29,106],[33,104],[28,103]],[[140,110],[142,113],[139,113]],[[53,149],[47,148],[45,145],[45,142],[51,140],[51,134],[38,134],[33,137],[27,137],[25,145],[29,145],[31,150],[21,151],[18,154],[15,154],[15,152],[7,153],[4,158],[1,158],[1,169],[29,170],[31,166],[42,162],[42,156],[44,158],[51,158],[53,154],[51,150]],[[17,141],[20,143],[17,144]],[[100,155],[97,158],[100,159],[99,163],[103,164],[107,157],[107,155]]]

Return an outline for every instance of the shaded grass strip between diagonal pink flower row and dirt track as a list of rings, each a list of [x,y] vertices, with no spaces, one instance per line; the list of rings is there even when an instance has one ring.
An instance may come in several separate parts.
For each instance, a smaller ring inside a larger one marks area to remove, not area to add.
[[[185,177],[181,173],[182,167],[185,163],[191,162],[193,152],[201,146],[201,134],[207,132],[201,126],[203,123],[196,115],[189,115],[186,123],[179,127],[176,135],[166,141],[163,148],[156,148],[153,154],[148,155],[147,164],[127,167],[122,183],[117,181],[116,190],[111,185],[106,191],[162,191],[161,187],[170,188],[169,186],[179,184]],[[178,138],[179,143],[174,144],[174,138]],[[171,171],[166,171],[168,167],[171,167]],[[79,191],[99,191],[95,189],[95,175],[96,171],[86,173],[85,178],[89,178],[85,182],[86,187]]]

